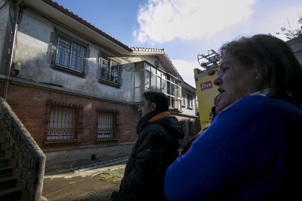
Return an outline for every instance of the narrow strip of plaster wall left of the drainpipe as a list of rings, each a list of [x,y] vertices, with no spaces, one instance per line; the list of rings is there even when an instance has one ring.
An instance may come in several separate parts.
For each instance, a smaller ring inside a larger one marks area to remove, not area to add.
[[[5,64],[7,64],[9,53],[9,39],[6,36],[9,36],[8,25],[10,25],[8,2],[0,0],[0,8],[0,74],[6,75],[7,65]]]

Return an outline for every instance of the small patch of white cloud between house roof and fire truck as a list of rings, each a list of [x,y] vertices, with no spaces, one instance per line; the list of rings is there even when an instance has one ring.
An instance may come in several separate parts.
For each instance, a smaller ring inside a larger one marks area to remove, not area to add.
[[[191,86],[195,87],[195,80],[194,80],[194,69],[203,69],[198,64],[198,61],[196,62],[187,62],[184,60],[172,60],[173,65],[177,69],[178,73],[182,76],[182,79],[190,84]]]

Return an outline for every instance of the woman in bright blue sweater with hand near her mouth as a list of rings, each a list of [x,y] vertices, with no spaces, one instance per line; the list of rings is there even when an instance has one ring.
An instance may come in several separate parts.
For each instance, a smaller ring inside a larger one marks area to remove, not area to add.
[[[167,169],[167,199],[301,200],[301,65],[267,35],[220,52],[220,113]]]

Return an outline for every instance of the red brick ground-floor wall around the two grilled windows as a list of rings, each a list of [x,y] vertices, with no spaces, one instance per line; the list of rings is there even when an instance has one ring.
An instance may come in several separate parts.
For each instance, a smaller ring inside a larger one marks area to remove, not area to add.
[[[4,90],[4,83],[0,83],[0,92],[3,91],[2,88]],[[119,128],[121,132],[119,143],[134,142],[137,140],[135,127],[140,114],[134,106],[10,84],[6,101],[40,147],[43,146],[44,127],[47,125],[45,123],[45,116],[48,99],[51,99],[53,102],[83,105],[82,129],[84,131],[84,141],[80,145],[71,146],[106,143],[96,141],[98,128],[96,123],[98,112],[96,110],[98,107],[119,111]]]

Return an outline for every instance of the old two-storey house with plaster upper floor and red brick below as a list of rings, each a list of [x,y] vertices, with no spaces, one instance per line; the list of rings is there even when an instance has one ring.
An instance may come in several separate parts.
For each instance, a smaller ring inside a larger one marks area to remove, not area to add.
[[[0,0],[0,94],[46,155],[45,171],[129,155],[149,90],[167,95],[184,142],[198,133],[196,90],[164,49],[130,48],[51,0],[21,0],[14,16],[16,3]]]

